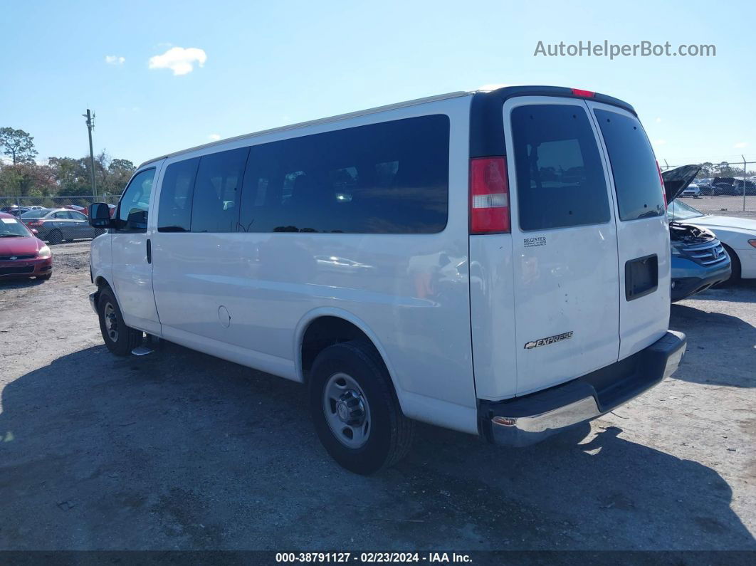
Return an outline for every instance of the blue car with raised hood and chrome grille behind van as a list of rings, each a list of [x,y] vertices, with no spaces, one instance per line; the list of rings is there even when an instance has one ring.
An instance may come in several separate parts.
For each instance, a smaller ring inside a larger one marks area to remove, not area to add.
[[[662,173],[669,203],[669,233],[672,257],[671,301],[682,301],[697,292],[730,279],[731,262],[711,230],[680,222],[674,217],[675,200],[699,172],[699,165],[683,165]],[[672,213],[670,213],[670,207]]]

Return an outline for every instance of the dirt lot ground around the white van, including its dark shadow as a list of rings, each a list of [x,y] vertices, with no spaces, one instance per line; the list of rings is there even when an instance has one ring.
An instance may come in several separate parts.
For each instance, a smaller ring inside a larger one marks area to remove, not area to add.
[[[756,549],[756,285],[674,305],[673,379],[502,450],[420,426],[371,478],[304,389],[166,344],[125,360],[88,305],[88,244],[0,283],[0,549]]]

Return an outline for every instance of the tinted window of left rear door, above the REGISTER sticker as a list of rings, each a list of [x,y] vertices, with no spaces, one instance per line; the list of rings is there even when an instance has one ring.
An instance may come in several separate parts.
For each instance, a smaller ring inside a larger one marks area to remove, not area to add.
[[[584,108],[516,107],[512,134],[521,230],[609,221],[606,178]]]

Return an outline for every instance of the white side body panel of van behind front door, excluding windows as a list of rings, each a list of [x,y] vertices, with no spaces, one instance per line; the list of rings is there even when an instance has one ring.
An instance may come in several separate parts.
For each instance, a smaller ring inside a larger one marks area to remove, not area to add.
[[[373,338],[407,416],[476,433],[467,261],[470,99],[241,138],[166,159],[163,169],[215,151],[429,114],[447,114],[451,122],[448,224],[438,234],[159,233],[160,199],[153,194],[153,281],[163,336],[301,381],[302,333],[314,313],[331,313]]]

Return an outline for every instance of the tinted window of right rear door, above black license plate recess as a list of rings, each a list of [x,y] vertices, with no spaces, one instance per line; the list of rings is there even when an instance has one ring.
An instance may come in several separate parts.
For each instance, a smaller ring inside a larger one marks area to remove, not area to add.
[[[612,163],[620,220],[664,215],[656,159],[640,122],[610,110],[594,113]]]

